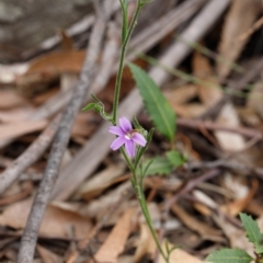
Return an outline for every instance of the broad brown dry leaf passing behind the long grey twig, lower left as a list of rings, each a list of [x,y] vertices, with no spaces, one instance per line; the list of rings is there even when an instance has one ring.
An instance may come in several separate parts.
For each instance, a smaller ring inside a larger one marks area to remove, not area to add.
[[[15,229],[25,227],[32,199],[24,199],[8,206],[0,215],[0,225]],[[69,238],[69,228],[75,229],[77,239],[84,238],[91,229],[91,222],[76,213],[48,205],[39,229],[39,235],[50,238]]]

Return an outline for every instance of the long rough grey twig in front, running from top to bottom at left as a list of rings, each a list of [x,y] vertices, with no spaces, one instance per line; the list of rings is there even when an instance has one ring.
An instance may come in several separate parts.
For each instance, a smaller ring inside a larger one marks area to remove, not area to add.
[[[95,3],[99,4],[98,1],[95,1]],[[106,26],[106,19],[107,18],[105,14],[100,13],[92,30],[88,53],[78,87],[69,105],[62,114],[58,133],[55,136],[55,140],[50,150],[47,167],[45,169],[43,180],[36,193],[26,227],[22,236],[21,248],[18,258],[19,263],[30,263],[33,261],[38,229],[49,199],[49,195],[58,175],[61,158],[70,137],[70,130],[75,117],[90,85],[90,78],[92,77],[94,64],[100,53],[101,42]]]

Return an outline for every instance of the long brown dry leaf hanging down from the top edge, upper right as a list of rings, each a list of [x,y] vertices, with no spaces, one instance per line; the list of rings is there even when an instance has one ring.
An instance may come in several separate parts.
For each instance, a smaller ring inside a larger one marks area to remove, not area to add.
[[[255,22],[262,11],[261,0],[233,0],[227,14],[219,54],[225,61],[217,62],[217,71],[221,79],[226,78],[231,70],[231,62],[235,62],[249,38],[239,42],[238,37],[247,32]]]

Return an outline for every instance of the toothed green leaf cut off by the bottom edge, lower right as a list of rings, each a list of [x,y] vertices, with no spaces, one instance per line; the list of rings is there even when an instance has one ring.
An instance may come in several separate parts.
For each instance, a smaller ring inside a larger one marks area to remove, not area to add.
[[[253,259],[240,249],[222,249],[213,252],[206,258],[210,263],[250,263]]]

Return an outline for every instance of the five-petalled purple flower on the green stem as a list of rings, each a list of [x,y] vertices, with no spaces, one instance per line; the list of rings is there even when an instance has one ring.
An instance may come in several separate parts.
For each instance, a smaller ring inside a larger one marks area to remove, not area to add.
[[[117,135],[118,137],[112,142],[112,150],[117,150],[125,145],[125,150],[129,157],[135,156],[135,144],[146,146],[145,137],[139,134],[136,129],[133,129],[130,122],[126,117],[118,119],[119,126],[111,126],[108,132]]]

